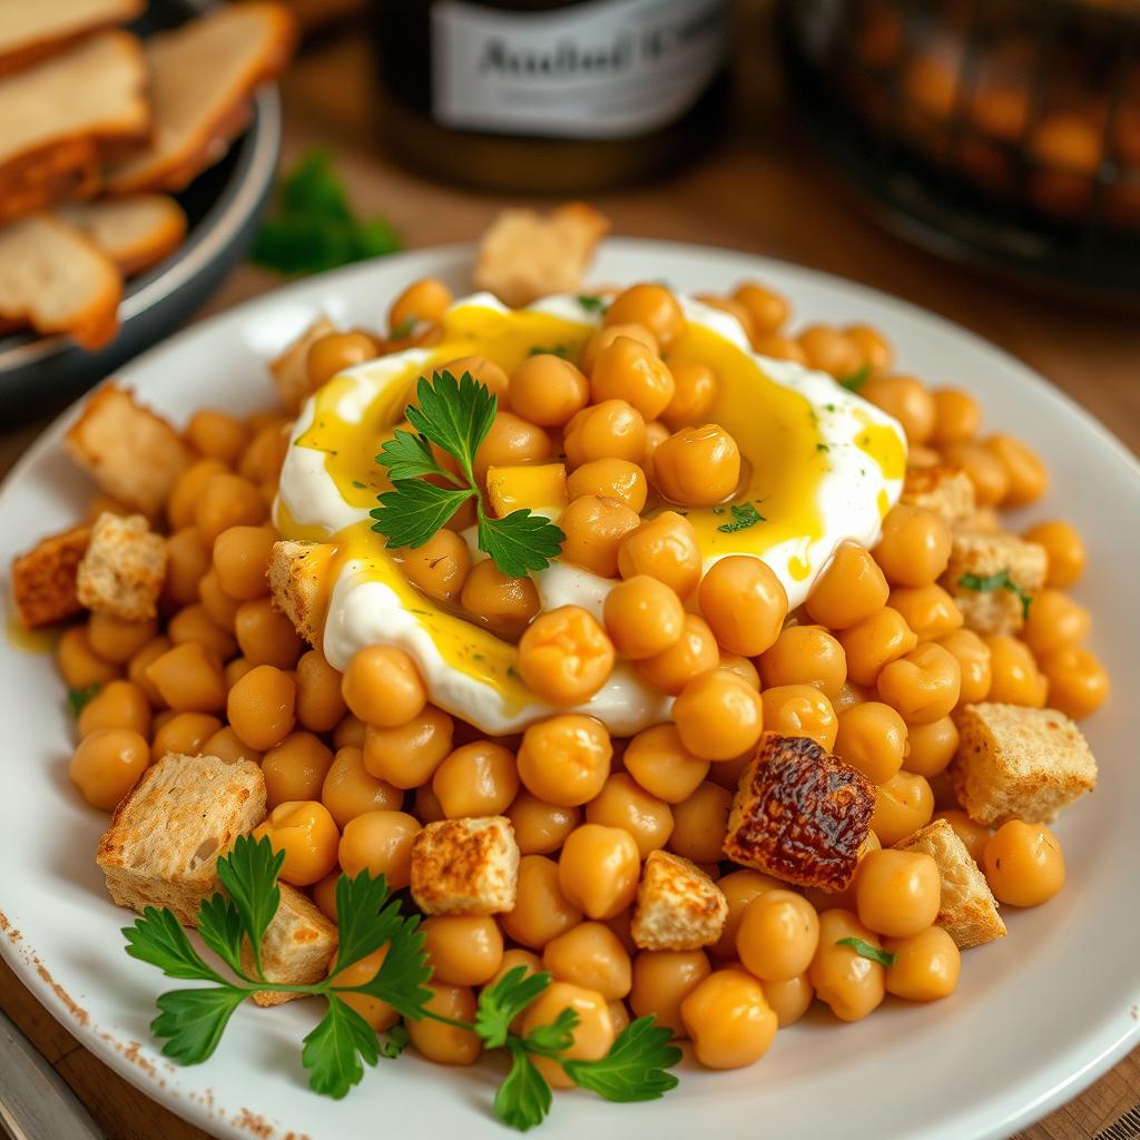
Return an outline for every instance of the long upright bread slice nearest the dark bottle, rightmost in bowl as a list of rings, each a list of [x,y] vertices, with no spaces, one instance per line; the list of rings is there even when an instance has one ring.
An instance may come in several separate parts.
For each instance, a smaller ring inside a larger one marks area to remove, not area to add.
[[[106,170],[113,194],[181,190],[245,127],[254,89],[280,73],[296,28],[277,3],[225,5],[146,41],[154,132]]]

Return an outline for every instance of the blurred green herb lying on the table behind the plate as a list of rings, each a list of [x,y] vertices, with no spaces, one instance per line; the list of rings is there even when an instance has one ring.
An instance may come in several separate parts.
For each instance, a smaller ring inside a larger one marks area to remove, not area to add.
[[[278,182],[250,258],[294,276],[393,253],[401,245],[386,219],[356,215],[328,152],[312,149]]]

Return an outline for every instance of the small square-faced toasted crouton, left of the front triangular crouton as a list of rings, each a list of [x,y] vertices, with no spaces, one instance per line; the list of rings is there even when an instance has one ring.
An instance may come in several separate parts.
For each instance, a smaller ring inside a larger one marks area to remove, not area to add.
[[[412,842],[412,897],[425,914],[514,907],[519,847],[502,815],[429,823]]]

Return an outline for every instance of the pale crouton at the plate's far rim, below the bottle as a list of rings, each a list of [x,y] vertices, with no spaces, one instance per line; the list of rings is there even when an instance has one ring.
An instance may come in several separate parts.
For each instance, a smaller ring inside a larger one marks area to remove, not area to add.
[[[547,293],[573,293],[609,219],[584,202],[534,210],[503,210],[479,243],[475,286],[518,308]]]

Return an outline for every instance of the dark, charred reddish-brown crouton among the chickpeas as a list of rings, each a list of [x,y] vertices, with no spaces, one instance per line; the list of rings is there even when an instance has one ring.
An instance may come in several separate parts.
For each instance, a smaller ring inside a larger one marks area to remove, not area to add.
[[[740,775],[724,853],[804,887],[842,890],[874,812],[874,784],[804,736],[767,734]]]

